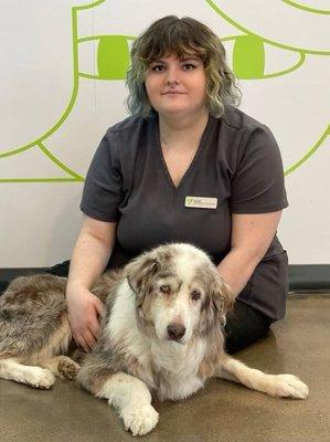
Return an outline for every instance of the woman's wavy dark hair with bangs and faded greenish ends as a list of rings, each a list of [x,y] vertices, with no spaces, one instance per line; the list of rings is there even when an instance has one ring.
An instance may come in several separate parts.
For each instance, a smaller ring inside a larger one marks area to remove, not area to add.
[[[171,54],[179,59],[194,55],[203,62],[210,115],[220,117],[226,104],[239,104],[241,91],[226,64],[225,49],[220,38],[205,24],[190,17],[179,19],[168,15],[152,23],[131,46],[131,64],[127,72],[127,105],[132,115],[147,117],[150,114],[151,105],[145,86],[146,72],[155,60]]]

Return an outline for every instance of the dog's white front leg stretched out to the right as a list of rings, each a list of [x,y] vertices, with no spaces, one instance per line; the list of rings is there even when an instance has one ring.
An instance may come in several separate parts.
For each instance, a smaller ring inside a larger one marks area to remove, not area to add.
[[[296,376],[266,375],[227,355],[216,375],[275,398],[306,399],[308,397],[308,387]]]

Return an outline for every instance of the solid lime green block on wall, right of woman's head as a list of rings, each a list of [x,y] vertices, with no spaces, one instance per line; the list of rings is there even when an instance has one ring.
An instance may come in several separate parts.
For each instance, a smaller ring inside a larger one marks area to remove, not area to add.
[[[237,36],[233,51],[233,70],[241,80],[263,78],[265,74],[265,46],[255,35]]]

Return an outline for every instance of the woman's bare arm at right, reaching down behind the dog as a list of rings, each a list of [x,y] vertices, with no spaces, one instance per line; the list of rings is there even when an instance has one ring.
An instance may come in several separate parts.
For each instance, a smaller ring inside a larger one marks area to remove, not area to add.
[[[280,220],[281,211],[232,215],[232,249],[217,270],[235,296],[245,287],[265,256]]]

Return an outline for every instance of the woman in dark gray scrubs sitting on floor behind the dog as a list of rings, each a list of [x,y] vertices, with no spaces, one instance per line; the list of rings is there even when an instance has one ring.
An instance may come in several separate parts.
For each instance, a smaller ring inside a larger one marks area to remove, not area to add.
[[[285,313],[287,256],[276,238],[287,207],[269,129],[238,110],[220,39],[191,19],[166,17],[134,43],[131,117],[109,128],[89,167],[84,223],[70,269],[76,341],[97,338],[102,303],[89,292],[109,266],[169,241],[213,257],[237,302],[227,317],[233,352]]]

